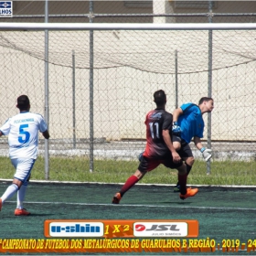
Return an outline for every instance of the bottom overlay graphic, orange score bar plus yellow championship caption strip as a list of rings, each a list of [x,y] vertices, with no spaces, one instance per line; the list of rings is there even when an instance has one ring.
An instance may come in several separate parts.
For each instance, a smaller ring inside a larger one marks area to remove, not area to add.
[[[255,251],[256,240],[198,238],[197,220],[48,219],[44,239],[0,239],[1,253],[186,253]]]

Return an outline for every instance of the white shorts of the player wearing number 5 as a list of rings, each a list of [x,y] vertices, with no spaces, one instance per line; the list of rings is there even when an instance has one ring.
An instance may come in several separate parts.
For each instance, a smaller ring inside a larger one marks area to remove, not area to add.
[[[33,165],[36,162],[36,159],[15,158],[15,159],[11,159],[11,162],[16,168],[16,173],[14,178],[24,183],[27,181],[27,178],[30,176],[31,170],[33,168]]]

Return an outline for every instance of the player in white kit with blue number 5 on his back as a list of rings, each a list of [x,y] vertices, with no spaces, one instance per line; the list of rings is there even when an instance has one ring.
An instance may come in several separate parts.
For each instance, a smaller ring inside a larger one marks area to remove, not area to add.
[[[13,183],[6,188],[0,197],[0,210],[7,199],[17,193],[16,216],[30,215],[23,202],[26,196],[27,184],[33,165],[37,160],[38,132],[48,139],[48,125],[44,118],[38,114],[29,112],[30,101],[27,95],[17,98],[16,107],[19,113],[10,117],[2,127],[0,136],[8,135],[9,157],[16,168]]]

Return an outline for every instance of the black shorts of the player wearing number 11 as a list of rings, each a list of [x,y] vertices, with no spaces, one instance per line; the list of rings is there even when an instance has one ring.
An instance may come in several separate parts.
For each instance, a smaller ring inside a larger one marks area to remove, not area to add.
[[[176,169],[183,165],[183,162],[180,161],[179,163],[174,163],[173,156],[171,155],[171,153],[165,155],[165,157],[163,157],[162,159],[148,158],[143,156],[138,169],[142,173],[150,172],[161,164],[165,165],[167,168]]]

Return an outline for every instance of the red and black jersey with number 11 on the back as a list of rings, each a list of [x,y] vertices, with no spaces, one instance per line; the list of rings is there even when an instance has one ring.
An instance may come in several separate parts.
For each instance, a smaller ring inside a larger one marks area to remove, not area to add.
[[[161,159],[170,151],[163,138],[163,130],[172,133],[173,115],[163,109],[155,109],[146,114],[146,147],[144,156]]]

